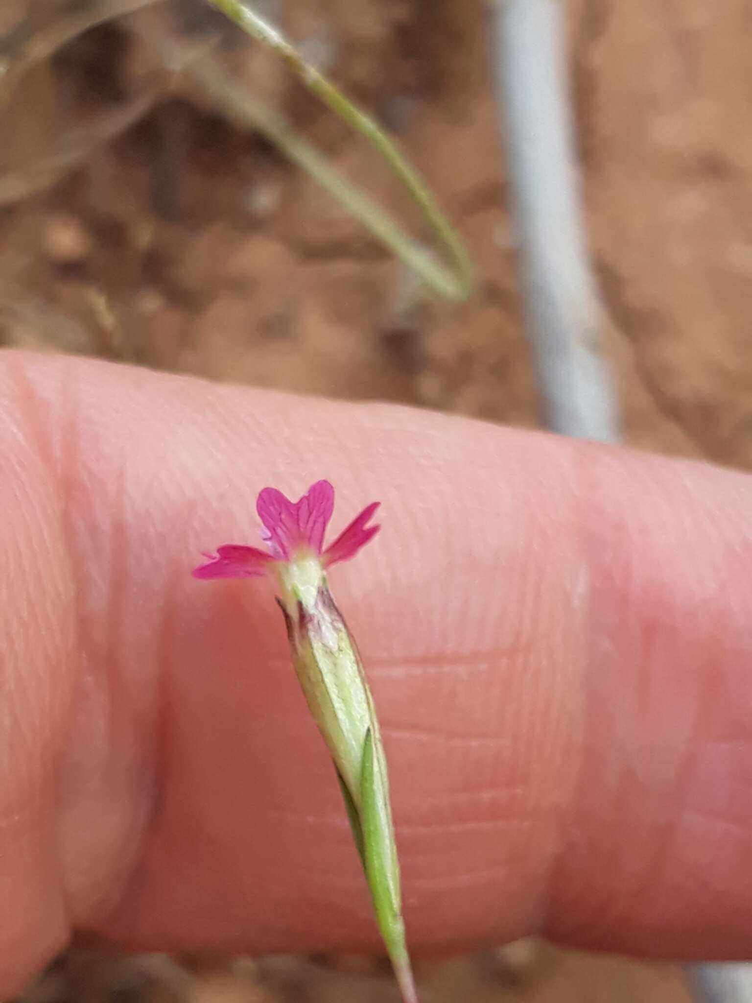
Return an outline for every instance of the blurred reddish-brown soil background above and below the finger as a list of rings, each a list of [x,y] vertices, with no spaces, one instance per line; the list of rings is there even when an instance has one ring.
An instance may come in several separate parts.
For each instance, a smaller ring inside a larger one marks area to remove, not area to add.
[[[480,0],[265,0],[372,111],[473,257],[413,278],[259,123],[284,114],[407,223],[373,151],[204,0],[3,0],[0,342],[535,426]],[[752,468],[748,0],[571,0],[592,262],[625,439]],[[428,1003],[687,1000],[682,973],[524,942],[419,966]],[[34,1001],[396,1000],[350,957],[123,959],[79,947]]]

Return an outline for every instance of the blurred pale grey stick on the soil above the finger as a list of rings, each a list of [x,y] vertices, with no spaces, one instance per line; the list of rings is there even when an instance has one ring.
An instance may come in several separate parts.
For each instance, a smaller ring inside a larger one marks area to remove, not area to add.
[[[561,5],[496,0],[491,19],[526,333],[546,424],[613,442],[619,418],[583,225]]]

